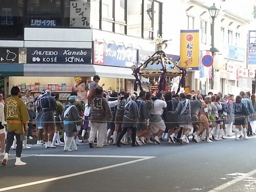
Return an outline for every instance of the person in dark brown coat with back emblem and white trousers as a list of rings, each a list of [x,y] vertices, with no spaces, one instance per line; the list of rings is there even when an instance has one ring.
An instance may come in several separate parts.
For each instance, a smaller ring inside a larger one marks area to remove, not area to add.
[[[107,121],[112,118],[108,100],[103,97],[103,89],[98,86],[95,89],[96,96],[92,99],[89,126],[91,127],[89,136],[90,148],[93,148],[95,135],[98,132],[97,147],[103,147],[107,132]]]

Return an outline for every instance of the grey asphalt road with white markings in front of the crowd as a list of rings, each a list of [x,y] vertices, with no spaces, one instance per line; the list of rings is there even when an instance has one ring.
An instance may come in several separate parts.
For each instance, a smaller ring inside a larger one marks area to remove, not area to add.
[[[256,137],[213,143],[11,150],[0,167],[0,191],[256,191]],[[0,157],[2,159],[2,157]]]

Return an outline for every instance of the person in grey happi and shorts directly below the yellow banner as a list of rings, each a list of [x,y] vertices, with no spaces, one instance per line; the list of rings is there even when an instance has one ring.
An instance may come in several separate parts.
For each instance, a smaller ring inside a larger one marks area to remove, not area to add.
[[[181,101],[179,102],[174,113],[178,114],[180,127],[183,128],[183,137],[181,139],[181,143],[185,141],[189,143],[188,134],[192,128],[192,118],[191,118],[191,104],[190,100],[186,99],[186,94],[180,94]]]

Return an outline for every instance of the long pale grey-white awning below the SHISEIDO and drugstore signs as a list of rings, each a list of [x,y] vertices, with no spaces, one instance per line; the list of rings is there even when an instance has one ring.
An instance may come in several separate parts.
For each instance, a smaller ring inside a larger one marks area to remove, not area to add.
[[[92,77],[99,75],[106,78],[133,79],[130,68],[100,66],[100,65],[24,65],[24,76],[41,77]]]

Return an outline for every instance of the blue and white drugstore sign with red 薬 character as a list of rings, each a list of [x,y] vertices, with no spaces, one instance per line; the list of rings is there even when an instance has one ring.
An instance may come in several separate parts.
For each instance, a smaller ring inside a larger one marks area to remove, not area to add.
[[[137,49],[94,42],[93,61],[98,65],[131,67],[137,62]]]

